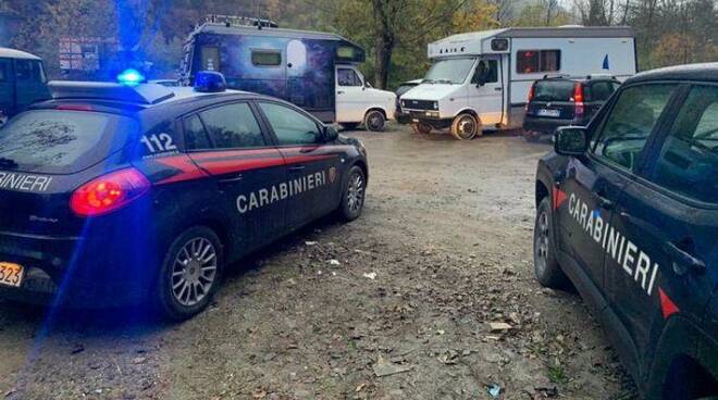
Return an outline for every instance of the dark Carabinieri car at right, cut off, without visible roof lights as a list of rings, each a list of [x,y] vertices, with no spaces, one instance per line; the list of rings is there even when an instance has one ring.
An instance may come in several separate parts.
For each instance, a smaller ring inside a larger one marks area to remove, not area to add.
[[[718,396],[718,63],[636,75],[538,163],[535,274],[570,280],[648,399]]]

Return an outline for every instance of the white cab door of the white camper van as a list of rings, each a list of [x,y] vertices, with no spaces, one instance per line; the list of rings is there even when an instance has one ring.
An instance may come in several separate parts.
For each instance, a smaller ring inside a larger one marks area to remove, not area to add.
[[[483,57],[476,62],[468,86],[469,107],[476,110],[484,126],[502,122],[504,110],[504,73],[498,55]]]

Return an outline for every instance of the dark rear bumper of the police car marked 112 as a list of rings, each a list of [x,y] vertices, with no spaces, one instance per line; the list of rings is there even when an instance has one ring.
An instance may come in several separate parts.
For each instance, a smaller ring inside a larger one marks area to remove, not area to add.
[[[132,240],[0,233],[0,261],[23,266],[20,287],[0,297],[36,304],[107,308],[139,304],[157,271],[156,251]]]

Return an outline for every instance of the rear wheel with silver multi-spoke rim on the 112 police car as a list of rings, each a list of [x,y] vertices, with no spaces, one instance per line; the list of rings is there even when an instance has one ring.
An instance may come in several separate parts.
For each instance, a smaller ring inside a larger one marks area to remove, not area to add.
[[[154,300],[165,320],[187,320],[207,308],[224,272],[222,242],[205,226],[177,236],[162,262]]]

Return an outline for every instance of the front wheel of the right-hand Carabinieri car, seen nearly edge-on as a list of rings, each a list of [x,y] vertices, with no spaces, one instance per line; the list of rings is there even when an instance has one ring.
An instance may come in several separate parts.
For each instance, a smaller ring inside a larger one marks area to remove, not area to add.
[[[545,197],[538,203],[536,222],[533,230],[533,265],[536,279],[542,286],[561,289],[569,280],[556,259],[554,243],[554,221],[550,198]]]

